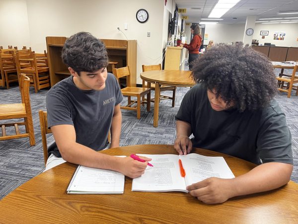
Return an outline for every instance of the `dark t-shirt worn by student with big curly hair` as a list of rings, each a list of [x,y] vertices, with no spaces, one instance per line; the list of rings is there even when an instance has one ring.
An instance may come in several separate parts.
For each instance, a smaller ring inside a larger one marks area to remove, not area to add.
[[[291,132],[276,100],[257,112],[211,108],[207,89],[200,84],[182,100],[177,120],[191,124],[193,147],[232,155],[256,164],[293,164]]]

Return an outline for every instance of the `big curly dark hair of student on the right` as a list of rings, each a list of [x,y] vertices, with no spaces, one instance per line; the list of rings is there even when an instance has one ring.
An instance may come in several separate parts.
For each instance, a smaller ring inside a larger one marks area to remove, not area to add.
[[[277,92],[268,58],[243,43],[210,48],[194,62],[193,76],[240,112],[268,106]]]

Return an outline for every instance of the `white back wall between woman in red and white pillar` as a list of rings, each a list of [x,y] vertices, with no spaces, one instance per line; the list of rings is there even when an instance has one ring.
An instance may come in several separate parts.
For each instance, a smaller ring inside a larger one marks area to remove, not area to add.
[[[243,41],[245,24],[206,24],[205,34],[208,34],[208,44],[210,40],[218,43],[230,43]]]

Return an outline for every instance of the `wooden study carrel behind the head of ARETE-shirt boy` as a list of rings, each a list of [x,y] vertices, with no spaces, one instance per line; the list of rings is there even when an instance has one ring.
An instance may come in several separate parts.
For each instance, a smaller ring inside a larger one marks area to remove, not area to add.
[[[67,66],[61,58],[62,48],[67,37],[47,36],[48,61],[50,68],[51,87],[70,76]],[[106,45],[110,61],[118,62],[117,67],[130,67],[128,85],[137,83],[137,41],[136,40],[109,40],[101,39]],[[109,72],[112,72],[108,68]]]

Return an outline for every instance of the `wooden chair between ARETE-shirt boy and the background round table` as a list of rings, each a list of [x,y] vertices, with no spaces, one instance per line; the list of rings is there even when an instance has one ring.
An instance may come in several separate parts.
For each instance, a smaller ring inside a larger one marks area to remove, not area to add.
[[[128,66],[123,68],[118,68],[118,69],[115,68],[113,70],[113,74],[118,79],[118,82],[120,78],[126,77],[126,80],[127,80],[126,83],[128,83],[128,79],[130,78],[130,71]],[[121,92],[123,96],[127,96],[127,99],[128,99],[127,106],[120,107],[121,109],[137,111],[138,119],[141,118],[141,104],[146,104],[147,111],[150,111],[150,89],[149,88],[127,86],[121,89]],[[141,101],[141,98],[145,95],[147,95],[147,101]],[[137,100],[132,101],[131,97],[137,97]],[[134,104],[136,104],[136,106],[132,107]]]

